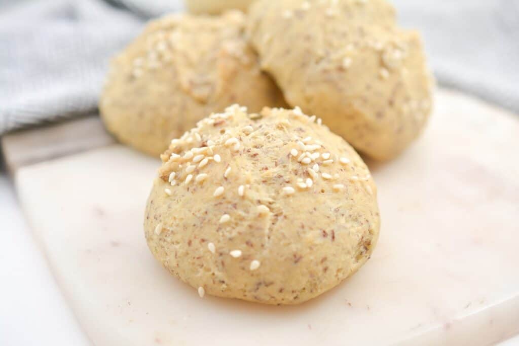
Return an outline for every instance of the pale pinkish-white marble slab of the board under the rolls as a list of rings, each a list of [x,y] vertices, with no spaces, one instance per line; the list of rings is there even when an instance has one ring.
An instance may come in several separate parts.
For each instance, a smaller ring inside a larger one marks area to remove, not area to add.
[[[16,183],[98,346],[476,346],[519,333],[519,119],[440,91],[424,136],[368,164],[383,219],[371,260],[292,307],[201,299],[155,261],[142,220],[157,160],[111,145],[21,168]]]

